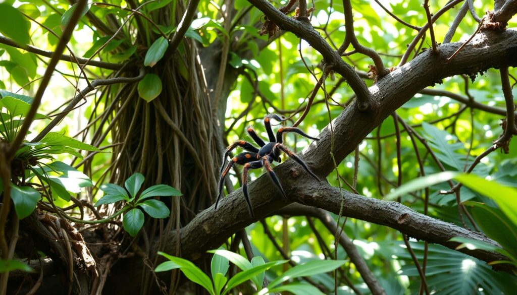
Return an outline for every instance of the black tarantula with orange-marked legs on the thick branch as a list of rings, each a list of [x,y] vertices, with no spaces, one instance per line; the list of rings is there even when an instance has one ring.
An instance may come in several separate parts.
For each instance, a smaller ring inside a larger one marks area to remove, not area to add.
[[[247,182],[249,169],[266,167],[267,174],[269,175],[269,177],[271,177],[271,180],[277,185],[278,189],[282,192],[282,196],[285,199],[287,199],[287,197],[285,196],[285,192],[282,189],[282,185],[280,184],[280,181],[278,181],[278,178],[275,175],[275,172],[273,172],[273,169],[270,165],[273,161],[281,161],[280,152],[282,151],[285,152],[287,156],[293,158],[296,162],[298,162],[298,164],[300,164],[317,181],[320,181],[320,179],[314,173],[312,173],[309,167],[307,167],[307,165],[298,156],[296,156],[296,154],[294,154],[291,150],[289,150],[286,146],[282,144],[282,134],[286,132],[295,132],[307,138],[314,139],[316,141],[320,138],[311,137],[295,127],[280,127],[277,131],[277,136],[275,137],[275,134],[271,130],[271,119],[283,121],[283,119],[276,114],[269,114],[264,118],[264,126],[266,127],[267,135],[269,137],[269,143],[267,144],[264,143],[262,138],[258,137],[257,133],[255,132],[255,130],[253,130],[251,126],[247,128],[248,134],[253,139],[253,141],[260,146],[260,149],[254,147],[253,145],[245,141],[236,141],[226,148],[226,152],[224,153],[223,157],[223,164],[219,172],[221,174],[221,178],[219,179],[219,195],[217,196],[215,209],[217,209],[217,204],[219,203],[219,199],[221,198],[221,195],[223,193],[224,179],[226,178],[226,175],[228,175],[230,168],[234,164],[244,165],[244,169],[242,170],[242,193],[244,193],[244,197],[246,198],[246,202],[248,203],[248,207],[250,208],[250,213],[252,217],[255,217],[255,215],[253,213],[253,207],[251,206],[250,198],[248,196]],[[237,156],[232,158],[232,160],[228,164],[226,164],[226,158],[228,157],[228,154],[236,147],[241,147],[242,149],[246,150],[246,152],[239,153]]]

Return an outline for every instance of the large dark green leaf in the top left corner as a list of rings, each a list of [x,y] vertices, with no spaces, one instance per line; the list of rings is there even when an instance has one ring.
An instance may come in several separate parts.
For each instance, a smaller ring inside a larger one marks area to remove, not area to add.
[[[0,33],[20,45],[28,44],[30,25],[23,14],[11,5],[0,3],[0,15]]]

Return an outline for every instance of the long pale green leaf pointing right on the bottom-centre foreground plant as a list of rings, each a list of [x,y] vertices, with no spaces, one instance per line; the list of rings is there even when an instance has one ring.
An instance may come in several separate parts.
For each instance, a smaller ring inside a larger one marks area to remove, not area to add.
[[[269,283],[267,287],[268,289],[271,289],[289,280],[290,278],[300,276],[311,276],[315,274],[333,271],[334,269],[341,267],[345,263],[345,260],[316,260],[303,263],[301,265],[295,266],[290,270],[287,270],[282,275],[277,277],[275,280],[271,281],[271,283]]]

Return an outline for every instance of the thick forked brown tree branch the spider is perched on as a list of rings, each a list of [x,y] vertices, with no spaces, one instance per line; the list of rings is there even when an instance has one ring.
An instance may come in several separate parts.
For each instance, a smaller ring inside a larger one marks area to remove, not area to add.
[[[334,138],[337,144],[334,145],[333,154],[336,161],[341,162],[347,154],[354,151],[362,139],[379,123],[421,89],[447,76],[517,65],[517,30],[479,33],[474,42],[469,43],[451,63],[445,63],[445,59],[460,45],[460,42],[441,45],[437,55],[423,53],[371,86],[369,90],[375,98],[375,112],[365,114],[356,107],[347,107],[334,119]],[[330,130],[323,130],[320,138],[320,141],[309,146],[301,157],[314,173],[326,176],[333,169],[329,156]],[[277,166],[275,173],[290,199],[333,212],[339,211],[339,190],[324,182],[317,183],[293,161],[285,161]],[[252,181],[249,192],[257,219],[288,204],[282,200],[267,176]],[[366,198],[348,192],[344,192],[344,198],[343,215],[387,225],[410,237],[442,244],[451,249],[454,249],[457,243],[448,240],[455,236],[495,244],[481,234],[430,218],[396,202]],[[191,259],[200,258],[204,251],[218,247],[232,234],[254,221],[249,218],[241,190],[237,190],[221,201],[218,210],[210,207],[181,229],[181,253]],[[176,237],[175,234],[169,236],[171,239],[166,242],[165,251],[172,251],[178,242],[172,238]],[[484,261],[502,258],[488,251],[461,251]]]

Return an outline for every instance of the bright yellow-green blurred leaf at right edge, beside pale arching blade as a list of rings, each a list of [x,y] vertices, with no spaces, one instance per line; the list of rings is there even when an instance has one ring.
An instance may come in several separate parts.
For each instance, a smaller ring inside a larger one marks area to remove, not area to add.
[[[496,201],[497,205],[517,227],[517,189],[505,187],[472,174],[457,175],[454,179],[466,187]]]

